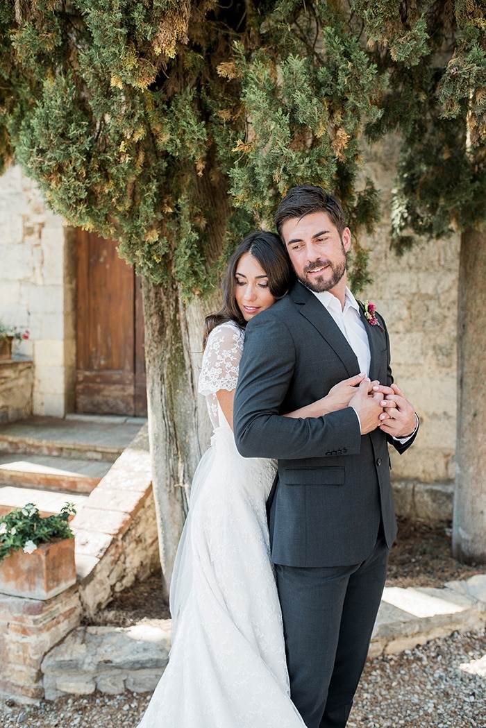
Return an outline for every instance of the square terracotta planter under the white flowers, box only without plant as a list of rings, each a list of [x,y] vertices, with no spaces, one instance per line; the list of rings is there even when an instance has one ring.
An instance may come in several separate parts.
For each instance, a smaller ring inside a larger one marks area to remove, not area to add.
[[[74,539],[42,544],[33,553],[12,551],[0,561],[0,593],[50,599],[76,583]]]

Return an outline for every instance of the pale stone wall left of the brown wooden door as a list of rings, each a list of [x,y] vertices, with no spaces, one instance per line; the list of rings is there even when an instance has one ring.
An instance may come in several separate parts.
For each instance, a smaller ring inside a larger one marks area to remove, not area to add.
[[[33,412],[63,416],[74,391],[74,238],[20,167],[0,177],[0,318],[28,328]]]

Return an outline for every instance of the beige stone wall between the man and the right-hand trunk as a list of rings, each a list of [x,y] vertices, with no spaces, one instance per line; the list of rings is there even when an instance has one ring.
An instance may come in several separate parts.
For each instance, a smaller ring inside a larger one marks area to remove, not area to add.
[[[385,317],[393,376],[421,421],[413,447],[401,456],[391,453],[393,481],[450,483],[455,477],[460,238],[420,240],[401,258],[390,249],[397,149],[396,138],[390,137],[366,150],[365,172],[381,190],[382,219],[372,237],[361,238],[370,250],[374,282],[358,297],[373,301]]]

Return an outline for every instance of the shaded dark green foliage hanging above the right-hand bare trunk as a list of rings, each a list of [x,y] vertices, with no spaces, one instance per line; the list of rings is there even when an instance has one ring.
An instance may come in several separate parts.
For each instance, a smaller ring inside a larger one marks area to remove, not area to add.
[[[392,202],[399,252],[414,234],[444,237],[486,223],[486,7],[482,1],[379,2],[363,12],[372,57],[390,84],[367,132],[401,132]],[[395,52],[403,41],[403,55]],[[418,40],[420,39],[420,41]],[[416,63],[412,63],[414,56]]]

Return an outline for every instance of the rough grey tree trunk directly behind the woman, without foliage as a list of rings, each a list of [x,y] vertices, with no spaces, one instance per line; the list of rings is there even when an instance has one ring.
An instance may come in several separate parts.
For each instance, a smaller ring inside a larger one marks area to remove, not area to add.
[[[162,592],[168,600],[173,562],[187,513],[185,487],[208,445],[205,406],[197,402],[197,374],[206,302],[185,307],[174,282],[142,278],[146,386],[152,482],[159,531]]]

